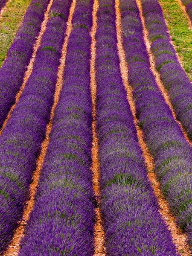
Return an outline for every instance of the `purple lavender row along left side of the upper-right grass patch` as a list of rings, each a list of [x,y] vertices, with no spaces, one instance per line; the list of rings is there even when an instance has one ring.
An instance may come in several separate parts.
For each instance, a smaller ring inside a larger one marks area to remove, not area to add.
[[[177,119],[192,139],[192,84],[177,60],[160,4],[157,0],[142,0],[142,8],[156,69],[168,90]]]

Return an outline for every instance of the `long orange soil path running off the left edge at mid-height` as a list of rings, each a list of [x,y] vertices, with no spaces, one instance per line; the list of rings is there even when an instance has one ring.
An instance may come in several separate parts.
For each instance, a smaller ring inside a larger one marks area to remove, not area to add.
[[[2,131],[3,131],[3,129],[5,128],[7,121],[9,120],[13,109],[17,105],[17,102],[18,102],[18,100],[19,100],[19,98],[20,98],[20,96],[21,96],[21,94],[23,92],[23,89],[26,86],[26,82],[27,82],[27,80],[29,79],[29,76],[32,73],[32,69],[33,69],[33,64],[34,64],[34,61],[35,61],[36,53],[37,53],[38,48],[40,47],[41,39],[42,39],[43,34],[44,34],[44,32],[46,30],[46,27],[47,27],[46,25],[47,25],[47,21],[49,19],[49,10],[50,10],[50,8],[52,6],[52,2],[53,2],[53,0],[50,0],[49,5],[47,6],[47,11],[45,12],[45,15],[44,15],[44,21],[41,23],[41,30],[39,32],[38,38],[35,41],[35,44],[34,44],[34,47],[33,47],[33,54],[32,54],[32,57],[30,59],[29,65],[27,66],[27,70],[26,70],[24,78],[23,78],[23,84],[21,85],[20,90],[18,91],[17,95],[15,96],[15,103],[14,103],[14,105],[12,105],[9,113],[7,114],[7,117],[6,117],[5,121],[3,122],[2,128],[0,129],[0,135],[1,135]]]

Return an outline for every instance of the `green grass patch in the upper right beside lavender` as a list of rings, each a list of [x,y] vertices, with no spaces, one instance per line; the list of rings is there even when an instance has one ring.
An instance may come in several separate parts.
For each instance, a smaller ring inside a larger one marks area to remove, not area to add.
[[[176,0],[159,0],[172,41],[184,70],[192,81],[192,31],[188,28],[186,14]]]

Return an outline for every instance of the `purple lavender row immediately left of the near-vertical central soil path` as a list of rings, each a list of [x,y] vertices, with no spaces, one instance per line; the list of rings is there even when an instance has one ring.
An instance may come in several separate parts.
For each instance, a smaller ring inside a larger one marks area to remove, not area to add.
[[[77,0],[63,88],[19,256],[93,255],[90,29],[93,1]]]

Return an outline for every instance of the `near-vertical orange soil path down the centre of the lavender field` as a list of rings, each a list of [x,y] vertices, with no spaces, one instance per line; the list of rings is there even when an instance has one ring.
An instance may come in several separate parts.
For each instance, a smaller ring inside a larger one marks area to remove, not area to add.
[[[92,114],[93,114],[93,122],[92,122],[92,166],[91,170],[93,173],[93,190],[95,196],[97,198],[98,206],[95,209],[96,212],[96,223],[94,226],[94,256],[105,256],[105,248],[104,248],[104,239],[105,234],[103,230],[101,212],[99,207],[100,201],[100,189],[99,189],[99,161],[98,161],[98,138],[96,134],[96,79],[95,79],[95,58],[96,58],[96,29],[97,29],[97,16],[96,12],[98,10],[99,3],[98,0],[94,0],[93,3],[93,26],[91,29],[91,60],[90,60],[90,89],[91,89],[91,98],[92,98]]]

